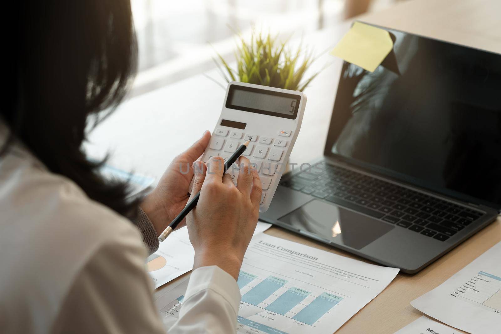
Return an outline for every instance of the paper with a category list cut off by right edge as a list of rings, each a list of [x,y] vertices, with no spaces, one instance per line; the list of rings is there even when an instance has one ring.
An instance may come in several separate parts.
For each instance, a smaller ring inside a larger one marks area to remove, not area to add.
[[[470,333],[501,333],[501,242],[411,305]]]

